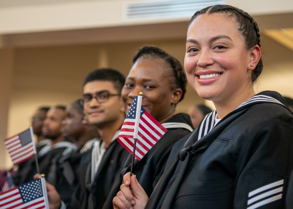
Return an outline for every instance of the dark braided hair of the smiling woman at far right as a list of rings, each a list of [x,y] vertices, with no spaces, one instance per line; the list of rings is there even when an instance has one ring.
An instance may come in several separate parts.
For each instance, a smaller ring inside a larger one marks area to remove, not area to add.
[[[255,45],[260,47],[260,34],[258,24],[245,11],[230,5],[214,5],[208,6],[202,10],[197,11],[191,18],[189,25],[193,20],[201,14],[224,13],[226,16],[235,18],[238,23],[238,31],[244,39],[246,50],[251,49]],[[251,72],[251,81],[255,83],[261,71],[263,70],[263,61],[260,57],[255,69]]]

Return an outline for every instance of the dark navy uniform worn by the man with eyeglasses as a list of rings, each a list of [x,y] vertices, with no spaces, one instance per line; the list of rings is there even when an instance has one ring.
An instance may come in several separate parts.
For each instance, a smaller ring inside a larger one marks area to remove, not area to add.
[[[116,133],[115,135],[118,135],[119,131]],[[74,190],[70,208],[102,208],[127,154],[127,150],[115,138],[105,150],[94,181],[91,181],[91,153],[88,153],[79,167],[84,174],[80,175],[81,179]]]

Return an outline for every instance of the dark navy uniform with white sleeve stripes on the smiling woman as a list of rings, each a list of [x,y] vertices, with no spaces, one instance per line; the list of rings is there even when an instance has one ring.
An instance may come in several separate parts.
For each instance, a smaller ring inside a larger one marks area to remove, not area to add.
[[[261,92],[215,126],[214,118],[174,146],[146,208],[284,208],[293,168],[293,115],[284,98]]]

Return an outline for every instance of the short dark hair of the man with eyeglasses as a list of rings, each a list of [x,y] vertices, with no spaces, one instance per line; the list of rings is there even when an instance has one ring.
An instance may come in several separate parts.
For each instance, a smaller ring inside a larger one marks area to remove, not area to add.
[[[121,92],[122,87],[125,83],[125,76],[119,71],[111,68],[100,68],[95,71],[89,73],[84,79],[84,85],[88,82],[102,80],[102,81],[110,81],[113,82],[115,89],[118,92]]]

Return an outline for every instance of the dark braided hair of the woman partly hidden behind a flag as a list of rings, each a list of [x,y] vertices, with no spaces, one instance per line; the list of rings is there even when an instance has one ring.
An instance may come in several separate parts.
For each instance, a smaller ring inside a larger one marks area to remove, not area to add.
[[[175,77],[175,85],[172,90],[176,88],[180,88],[182,90],[182,96],[179,100],[183,100],[185,92],[186,92],[186,76],[183,72],[183,67],[180,64],[180,62],[171,56],[170,54],[166,53],[162,49],[159,49],[155,46],[145,45],[142,48],[138,49],[138,51],[135,53],[132,61],[135,63],[137,59],[140,57],[145,58],[145,56],[151,56],[153,58],[161,58],[165,60],[165,62],[170,65],[170,67],[173,69],[173,76]]]

